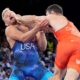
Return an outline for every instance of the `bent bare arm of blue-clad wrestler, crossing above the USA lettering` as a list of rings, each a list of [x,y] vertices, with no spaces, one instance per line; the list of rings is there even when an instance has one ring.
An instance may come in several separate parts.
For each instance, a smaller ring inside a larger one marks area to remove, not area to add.
[[[16,29],[14,26],[9,26],[6,28],[6,36],[13,39],[13,40],[19,40],[22,42],[29,41],[32,39],[35,34],[39,31],[38,27],[33,28],[32,30],[22,33],[18,29]]]

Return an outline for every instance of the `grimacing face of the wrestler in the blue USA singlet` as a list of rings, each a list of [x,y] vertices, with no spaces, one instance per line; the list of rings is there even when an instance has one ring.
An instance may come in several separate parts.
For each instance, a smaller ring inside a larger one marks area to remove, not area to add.
[[[16,21],[15,16],[16,14],[13,11],[10,10],[6,11],[3,16],[5,23],[13,24]]]

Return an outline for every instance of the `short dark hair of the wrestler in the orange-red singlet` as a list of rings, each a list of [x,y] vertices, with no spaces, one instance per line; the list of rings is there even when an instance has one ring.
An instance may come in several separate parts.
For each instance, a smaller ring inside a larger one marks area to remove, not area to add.
[[[52,4],[52,5],[48,6],[48,8],[46,9],[46,12],[48,12],[48,13],[52,13],[52,11],[54,11],[57,14],[63,15],[63,9],[58,4]]]

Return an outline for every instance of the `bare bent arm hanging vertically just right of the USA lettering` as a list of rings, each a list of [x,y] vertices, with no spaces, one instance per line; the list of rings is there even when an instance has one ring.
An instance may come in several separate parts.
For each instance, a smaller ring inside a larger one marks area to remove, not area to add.
[[[45,33],[43,31],[40,31],[37,33],[37,42],[38,42],[38,47],[41,51],[45,51],[47,47],[47,40]]]

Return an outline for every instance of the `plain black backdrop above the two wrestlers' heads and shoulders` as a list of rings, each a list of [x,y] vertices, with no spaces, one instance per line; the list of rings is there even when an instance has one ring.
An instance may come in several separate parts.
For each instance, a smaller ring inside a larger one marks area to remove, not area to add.
[[[80,30],[80,3],[79,0],[0,0],[0,30],[5,28],[1,20],[1,12],[9,7],[11,10],[24,14],[44,15],[45,9],[51,4],[59,4],[63,7],[64,15]]]

